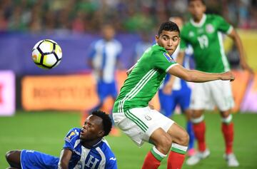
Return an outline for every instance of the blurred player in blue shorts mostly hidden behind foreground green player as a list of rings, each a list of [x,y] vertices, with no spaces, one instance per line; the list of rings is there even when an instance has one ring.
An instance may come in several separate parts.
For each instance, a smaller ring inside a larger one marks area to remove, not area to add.
[[[183,19],[181,16],[173,16],[169,20],[175,22],[179,29],[181,29],[183,26]],[[178,51],[179,46],[176,48],[176,51],[172,54],[171,57],[176,59]],[[183,61],[183,67],[189,69],[189,59],[192,53],[192,48],[188,47],[186,50],[185,59]],[[167,74],[163,81],[162,88],[160,88],[158,91],[158,98],[161,105],[161,113],[163,113],[163,115],[166,117],[171,118],[176,106],[179,106],[182,113],[186,116],[186,131],[189,135],[188,155],[193,155],[195,153],[193,148],[194,135],[193,125],[190,121],[192,112],[189,109],[191,88],[188,86],[188,83],[180,78],[177,78],[176,76],[170,76]]]

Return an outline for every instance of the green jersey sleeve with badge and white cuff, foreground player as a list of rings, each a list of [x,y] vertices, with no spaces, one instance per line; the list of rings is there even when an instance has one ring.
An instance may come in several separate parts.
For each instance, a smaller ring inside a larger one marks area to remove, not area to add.
[[[168,71],[169,68],[175,66],[177,63],[174,59],[164,50],[153,51],[152,59],[153,67]]]

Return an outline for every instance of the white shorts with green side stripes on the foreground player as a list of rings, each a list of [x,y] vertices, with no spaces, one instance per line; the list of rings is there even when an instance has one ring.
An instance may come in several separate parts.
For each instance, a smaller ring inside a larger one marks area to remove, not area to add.
[[[162,128],[165,132],[173,121],[151,108],[132,108],[125,113],[113,113],[114,123],[121,128],[138,146],[149,142],[154,130]]]

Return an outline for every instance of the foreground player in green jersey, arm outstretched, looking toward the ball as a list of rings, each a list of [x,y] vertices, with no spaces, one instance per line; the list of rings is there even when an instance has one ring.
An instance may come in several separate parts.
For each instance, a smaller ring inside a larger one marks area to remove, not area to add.
[[[143,142],[153,144],[146,155],[143,169],[158,168],[161,160],[168,155],[168,169],[181,168],[188,146],[186,130],[148,107],[148,102],[156,94],[166,73],[186,81],[233,81],[233,74],[204,73],[188,70],[176,63],[171,54],[180,41],[178,26],[164,22],[158,29],[156,44],[148,48],[138,62],[128,72],[114,103],[114,123],[121,128],[138,146]]]

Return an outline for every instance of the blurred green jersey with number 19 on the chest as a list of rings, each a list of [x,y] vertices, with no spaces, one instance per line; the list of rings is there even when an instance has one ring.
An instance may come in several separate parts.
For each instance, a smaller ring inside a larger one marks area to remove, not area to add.
[[[233,27],[221,16],[203,15],[199,23],[191,19],[181,30],[181,49],[193,47],[196,70],[210,73],[229,71],[223,49],[222,33],[230,34]]]

